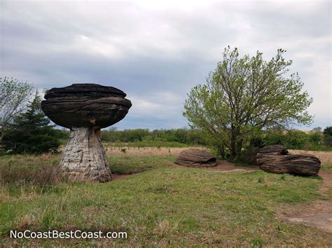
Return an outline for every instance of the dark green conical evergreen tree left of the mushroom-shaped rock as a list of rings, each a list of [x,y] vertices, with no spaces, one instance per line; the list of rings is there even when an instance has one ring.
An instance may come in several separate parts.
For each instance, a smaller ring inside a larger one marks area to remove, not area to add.
[[[40,154],[57,151],[59,133],[41,110],[41,98],[36,92],[27,111],[15,117],[2,140],[2,149],[14,154]]]

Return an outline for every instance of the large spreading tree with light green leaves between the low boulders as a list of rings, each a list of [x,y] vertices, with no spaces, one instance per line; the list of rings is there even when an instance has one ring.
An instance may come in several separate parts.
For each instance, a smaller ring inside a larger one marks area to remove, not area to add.
[[[298,73],[286,76],[292,61],[277,50],[270,61],[239,56],[225,48],[223,61],[210,72],[205,85],[196,85],[184,104],[184,116],[193,128],[202,129],[221,154],[240,158],[242,147],[262,129],[310,124],[306,111],[312,103]]]

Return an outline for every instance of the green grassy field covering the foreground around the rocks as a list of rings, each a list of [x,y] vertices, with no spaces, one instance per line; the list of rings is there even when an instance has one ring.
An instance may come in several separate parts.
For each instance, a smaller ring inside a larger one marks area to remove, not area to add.
[[[60,155],[2,156],[0,245],[332,245],[331,234],[275,218],[331,200],[319,195],[319,177],[179,168],[172,163],[179,149],[134,151],[107,151],[113,173],[139,174],[105,184],[59,182]],[[32,180],[41,168],[48,173]],[[27,229],[126,231],[127,239],[8,238]]]

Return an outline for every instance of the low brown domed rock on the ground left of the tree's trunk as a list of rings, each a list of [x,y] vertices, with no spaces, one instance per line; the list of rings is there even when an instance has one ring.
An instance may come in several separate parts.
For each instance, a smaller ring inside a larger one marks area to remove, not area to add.
[[[211,152],[203,149],[191,148],[180,152],[175,160],[180,166],[216,166],[216,158]]]

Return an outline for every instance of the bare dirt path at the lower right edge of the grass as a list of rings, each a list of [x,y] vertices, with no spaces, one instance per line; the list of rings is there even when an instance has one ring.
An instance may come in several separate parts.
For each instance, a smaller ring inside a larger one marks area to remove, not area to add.
[[[332,173],[320,171],[323,184],[319,187],[319,193],[324,200],[314,200],[312,203],[296,205],[277,214],[277,218],[294,224],[314,226],[321,231],[332,233],[332,198],[328,196],[328,190],[332,188]]]

